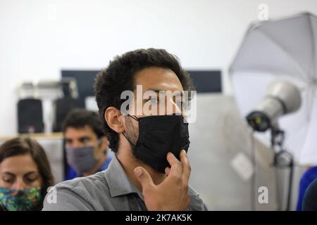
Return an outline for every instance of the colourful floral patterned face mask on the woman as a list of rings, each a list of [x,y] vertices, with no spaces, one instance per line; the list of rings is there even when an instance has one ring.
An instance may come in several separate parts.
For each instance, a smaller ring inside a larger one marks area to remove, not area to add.
[[[28,211],[39,203],[41,197],[41,188],[0,188],[0,207],[4,211]]]

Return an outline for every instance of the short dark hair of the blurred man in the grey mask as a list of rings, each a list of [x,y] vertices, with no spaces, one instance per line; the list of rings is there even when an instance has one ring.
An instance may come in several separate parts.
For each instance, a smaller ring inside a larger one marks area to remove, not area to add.
[[[80,129],[88,126],[94,131],[98,139],[104,136],[104,130],[102,128],[102,121],[98,113],[85,110],[82,108],[76,108],[68,113],[66,119],[63,122],[63,132],[65,133],[68,127]]]

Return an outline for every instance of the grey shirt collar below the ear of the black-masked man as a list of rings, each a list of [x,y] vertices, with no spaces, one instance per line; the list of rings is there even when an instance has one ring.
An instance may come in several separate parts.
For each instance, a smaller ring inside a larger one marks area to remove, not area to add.
[[[137,187],[135,187],[130,179],[128,179],[128,176],[125,174],[125,171],[120,165],[116,155],[113,156],[108,169],[106,169],[105,176],[108,182],[111,197],[137,193],[137,195],[139,195],[139,197],[143,200],[142,193],[140,193]]]

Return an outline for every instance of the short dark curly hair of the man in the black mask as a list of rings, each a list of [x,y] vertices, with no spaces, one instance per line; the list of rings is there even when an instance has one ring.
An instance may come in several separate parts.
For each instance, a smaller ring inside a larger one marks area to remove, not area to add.
[[[134,75],[149,67],[173,70],[185,91],[194,90],[192,79],[182,69],[178,58],[164,49],[138,49],[124,53],[122,56],[116,56],[106,69],[99,72],[94,84],[99,115],[104,123],[108,145],[115,153],[118,151],[119,136],[106,123],[104,112],[110,106],[120,110],[121,104],[125,101],[125,99],[120,99],[121,93],[126,90],[135,90]]]

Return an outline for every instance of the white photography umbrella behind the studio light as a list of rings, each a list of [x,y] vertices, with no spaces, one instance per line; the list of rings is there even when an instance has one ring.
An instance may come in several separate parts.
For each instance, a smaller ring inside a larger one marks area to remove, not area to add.
[[[235,98],[244,117],[263,101],[272,82],[286,81],[298,87],[302,98],[299,109],[280,117],[278,125],[285,131],[286,150],[303,165],[317,165],[316,48],[315,15],[263,21],[249,27],[230,67]],[[295,98],[288,99],[289,105],[298,103]],[[267,145],[271,143],[268,132],[256,136]]]

